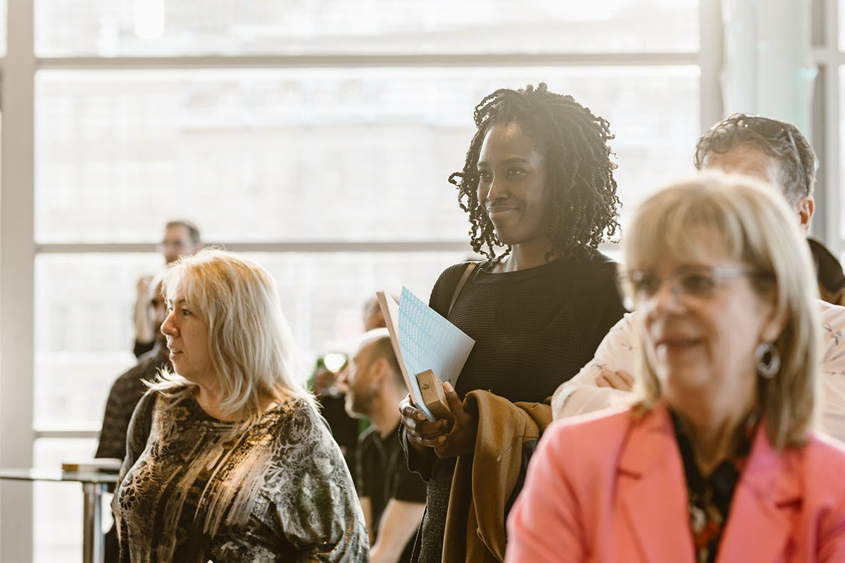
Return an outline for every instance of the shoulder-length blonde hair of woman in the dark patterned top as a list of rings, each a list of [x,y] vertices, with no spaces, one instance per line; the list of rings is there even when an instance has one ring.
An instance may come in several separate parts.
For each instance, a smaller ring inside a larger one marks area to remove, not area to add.
[[[262,396],[313,403],[270,273],[232,252],[204,249],[170,265],[162,283],[168,299],[177,285],[208,327],[210,365],[225,397],[222,409],[251,424],[263,414]],[[151,387],[167,394],[185,385],[194,384],[162,371]]]

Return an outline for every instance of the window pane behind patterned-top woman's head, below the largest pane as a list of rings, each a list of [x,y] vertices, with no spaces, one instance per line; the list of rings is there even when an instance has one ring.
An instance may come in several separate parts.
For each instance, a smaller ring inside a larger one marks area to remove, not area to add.
[[[279,285],[304,359],[348,345],[373,292],[404,284],[423,300],[467,252],[249,255]],[[114,379],[134,365],[135,280],[163,268],[148,255],[41,255],[35,263],[35,425],[99,430]],[[93,454],[93,452],[92,452]]]

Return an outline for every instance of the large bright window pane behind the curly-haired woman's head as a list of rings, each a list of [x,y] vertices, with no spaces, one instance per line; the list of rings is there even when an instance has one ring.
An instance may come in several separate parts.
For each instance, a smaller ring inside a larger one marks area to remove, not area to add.
[[[44,71],[36,238],[462,241],[472,108],[542,80],[610,121],[624,201],[689,168],[696,67]]]

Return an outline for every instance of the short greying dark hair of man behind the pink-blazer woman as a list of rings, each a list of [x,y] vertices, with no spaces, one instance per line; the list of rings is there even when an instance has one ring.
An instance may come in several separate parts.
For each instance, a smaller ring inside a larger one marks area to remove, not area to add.
[[[779,119],[734,113],[701,135],[693,164],[701,170],[709,154],[725,154],[741,146],[760,149],[780,163],[783,195],[790,203],[813,195],[815,153],[798,127]]]

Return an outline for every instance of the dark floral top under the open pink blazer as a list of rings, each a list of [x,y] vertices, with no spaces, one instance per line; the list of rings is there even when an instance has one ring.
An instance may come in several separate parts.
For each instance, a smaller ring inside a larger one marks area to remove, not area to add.
[[[722,529],[728,521],[733,490],[736,489],[739,477],[745,468],[751,452],[751,442],[756,430],[758,417],[753,414],[746,420],[739,430],[737,449],[733,456],[719,463],[708,476],[701,474],[698,463],[695,462],[690,436],[678,419],[672,414],[672,424],[675,437],[684,461],[684,475],[686,477],[688,504],[690,512],[690,530],[695,544],[696,563],[713,563],[722,539]]]

